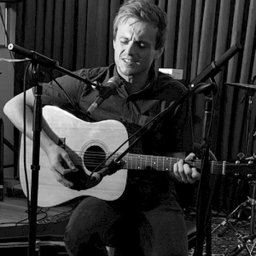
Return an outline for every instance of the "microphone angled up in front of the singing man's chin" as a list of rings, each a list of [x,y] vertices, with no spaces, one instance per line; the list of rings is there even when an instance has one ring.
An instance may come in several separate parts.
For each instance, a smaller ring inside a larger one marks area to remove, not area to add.
[[[112,76],[106,86],[101,86],[99,88],[99,96],[95,99],[95,101],[89,106],[87,109],[88,114],[92,114],[92,112],[98,108],[98,106],[105,100],[108,99],[115,91],[115,89],[120,85],[121,79],[118,76]]]

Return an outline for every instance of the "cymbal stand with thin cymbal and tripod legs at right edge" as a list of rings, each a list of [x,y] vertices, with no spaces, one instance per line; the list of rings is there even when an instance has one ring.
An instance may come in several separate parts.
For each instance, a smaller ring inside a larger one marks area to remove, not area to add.
[[[250,121],[251,121],[251,109],[252,109],[252,97],[254,95],[254,92],[256,91],[256,86],[254,85],[254,81],[256,79],[256,75],[253,77],[253,79],[250,81],[250,84],[246,83],[231,83],[227,82],[225,84],[233,87],[238,87],[240,89],[245,89],[246,92],[240,99],[240,103],[242,103],[245,98],[247,97],[248,100],[248,108],[247,108],[247,117],[246,117],[246,143],[245,143],[245,153],[239,153],[238,158],[240,160],[242,159],[248,159],[248,160],[254,160],[255,155],[253,153],[252,157],[248,157],[249,154],[249,144],[250,144],[250,137],[251,137],[251,131],[250,131]],[[255,134],[254,134],[255,135]],[[253,136],[254,136],[253,135]],[[249,255],[252,255],[252,252],[254,250],[254,247],[256,245],[256,234],[255,234],[255,192],[256,192],[256,181],[249,181],[249,185],[252,186],[252,195],[251,197],[247,197],[247,200],[242,202],[236,209],[234,209],[226,218],[224,221],[222,221],[212,232],[215,232],[220,226],[225,226],[228,224],[229,226],[226,227],[222,232],[218,234],[218,237],[222,237],[224,233],[229,229],[232,228],[234,232],[236,232],[237,238],[238,238],[238,245],[230,252],[225,255],[238,255],[242,250],[246,249]],[[250,230],[249,234],[243,234],[239,232],[235,224],[241,220],[241,214],[244,209],[250,209]],[[231,221],[231,217],[237,214],[237,219],[235,219],[233,222]]]

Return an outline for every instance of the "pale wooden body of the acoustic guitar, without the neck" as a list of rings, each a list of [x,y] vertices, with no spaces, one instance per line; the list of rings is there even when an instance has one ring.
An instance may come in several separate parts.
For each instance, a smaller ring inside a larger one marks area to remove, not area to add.
[[[71,160],[75,165],[78,164],[87,174],[90,174],[84,157],[87,151],[97,148],[99,152],[114,152],[128,137],[124,125],[116,120],[90,123],[82,121],[55,106],[45,106],[42,109],[42,115],[51,130],[63,142]],[[118,152],[123,152],[127,147],[126,143]],[[33,142],[26,137],[26,169],[29,192],[31,190],[32,150]],[[92,188],[79,191],[70,189],[56,181],[54,174],[50,170],[48,157],[41,149],[39,163],[37,204],[41,207],[51,207],[80,196],[94,196],[103,200],[115,200],[122,195],[126,185],[127,169],[121,169],[113,175],[105,176],[99,184]],[[20,139],[19,177],[22,189],[25,195],[28,196],[24,168],[24,136]]]

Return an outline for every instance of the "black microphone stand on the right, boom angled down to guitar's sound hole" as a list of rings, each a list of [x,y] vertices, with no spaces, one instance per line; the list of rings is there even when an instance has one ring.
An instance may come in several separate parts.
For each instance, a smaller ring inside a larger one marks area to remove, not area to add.
[[[217,92],[217,85],[214,80],[214,78],[209,78],[211,81],[209,84],[197,84],[197,86],[191,87],[191,90],[186,91],[178,100],[176,100],[173,104],[170,104],[168,108],[166,108],[163,112],[158,114],[157,116],[153,117],[150,121],[148,121],[145,125],[141,127],[133,136],[135,136],[137,133],[141,133],[141,136],[136,138],[134,142],[126,148],[124,152],[122,152],[117,158],[115,158],[108,166],[108,168],[103,168],[102,172],[101,170],[98,172],[100,179],[103,178],[105,175],[112,175],[115,173],[118,169],[120,169],[120,161],[121,159],[130,152],[131,148],[133,148],[139,140],[142,139],[143,135],[148,132],[145,128],[153,123],[151,128],[154,126],[155,123],[158,123],[163,117],[165,117],[166,113],[169,113],[170,111],[173,111],[175,113],[175,110],[178,108],[178,106],[182,103],[184,103],[193,93],[204,93],[206,97],[205,102],[205,118],[204,118],[204,127],[203,127],[203,133],[205,136],[208,136],[208,127],[207,124],[209,124],[209,113],[211,112],[212,106],[212,98],[209,96],[210,92]],[[113,156],[119,148],[125,144],[127,141],[131,140],[132,137],[124,141],[115,152],[111,154]],[[198,188],[198,199],[197,199],[197,241],[196,241],[196,248],[195,248],[195,255],[201,256],[203,254],[203,243],[206,236],[207,240],[207,246],[206,246],[206,252],[208,256],[211,255],[211,216],[210,216],[210,204],[211,204],[211,196],[209,197],[210,189],[209,189],[209,144],[208,144],[208,138],[205,138],[205,143],[202,146],[203,148],[203,160],[202,160],[202,166],[201,166],[201,179],[199,183]],[[111,158],[109,156],[109,158]],[[109,159],[108,158],[108,159]],[[107,160],[107,159],[106,159]],[[103,161],[103,162],[106,162]],[[102,164],[102,163],[101,163]],[[98,168],[100,168],[101,164],[99,164],[94,170],[93,173],[96,172]],[[207,207],[205,207],[207,205]]]

